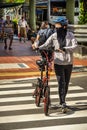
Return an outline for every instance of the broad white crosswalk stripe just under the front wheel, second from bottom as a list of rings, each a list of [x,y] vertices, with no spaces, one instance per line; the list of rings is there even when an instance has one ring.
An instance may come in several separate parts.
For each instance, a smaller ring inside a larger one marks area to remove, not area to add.
[[[2,123],[13,123],[13,122],[27,122],[27,121],[41,121],[41,120],[53,120],[53,119],[69,119],[69,118],[77,118],[77,117],[87,117],[87,110],[83,111],[75,111],[72,114],[62,114],[62,112],[56,112],[50,114],[50,116],[45,116],[42,114],[27,114],[27,115],[16,115],[16,116],[4,116],[0,117],[0,124]]]

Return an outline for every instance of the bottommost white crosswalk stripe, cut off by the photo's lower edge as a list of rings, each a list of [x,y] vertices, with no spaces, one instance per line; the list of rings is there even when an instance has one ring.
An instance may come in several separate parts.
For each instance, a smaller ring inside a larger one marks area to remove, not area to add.
[[[72,125],[57,125],[57,126],[48,126],[48,127],[40,127],[40,128],[30,128],[31,130],[87,130],[87,124],[72,124]],[[25,129],[12,129],[12,130],[29,130],[29,128]]]

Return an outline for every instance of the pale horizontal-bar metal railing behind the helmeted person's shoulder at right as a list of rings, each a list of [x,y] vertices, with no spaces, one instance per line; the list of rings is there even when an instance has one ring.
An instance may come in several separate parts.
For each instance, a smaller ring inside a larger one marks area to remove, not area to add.
[[[74,56],[87,58],[87,25],[69,25],[68,29],[74,33],[79,44]]]

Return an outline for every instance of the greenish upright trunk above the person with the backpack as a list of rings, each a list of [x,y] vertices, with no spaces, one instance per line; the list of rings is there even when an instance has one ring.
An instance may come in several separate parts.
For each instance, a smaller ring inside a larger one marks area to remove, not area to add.
[[[36,0],[29,0],[29,23],[33,30],[36,30]]]

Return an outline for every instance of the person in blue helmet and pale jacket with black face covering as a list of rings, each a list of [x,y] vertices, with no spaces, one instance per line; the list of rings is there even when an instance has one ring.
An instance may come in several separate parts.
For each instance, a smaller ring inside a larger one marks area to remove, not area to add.
[[[39,49],[54,47],[54,70],[58,81],[59,104],[63,113],[66,113],[66,95],[73,68],[73,52],[78,44],[73,33],[67,29],[67,19],[58,18],[54,22],[56,32]]]

